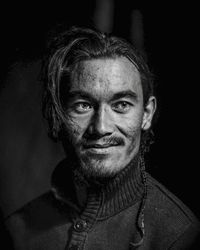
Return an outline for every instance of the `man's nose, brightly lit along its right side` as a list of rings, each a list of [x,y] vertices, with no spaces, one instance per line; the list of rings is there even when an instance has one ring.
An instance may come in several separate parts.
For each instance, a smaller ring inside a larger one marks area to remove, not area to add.
[[[101,106],[94,113],[89,125],[89,134],[105,136],[113,133],[113,117],[108,108]]]

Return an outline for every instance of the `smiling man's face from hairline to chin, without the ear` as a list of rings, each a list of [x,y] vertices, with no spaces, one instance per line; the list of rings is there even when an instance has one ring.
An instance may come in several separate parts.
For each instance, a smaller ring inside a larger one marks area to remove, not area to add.
[[[105,177],[126,167],[139,150],[145,114],[136,67],[125,57],[80,62],[66,98],[65,128],[82,170]]]

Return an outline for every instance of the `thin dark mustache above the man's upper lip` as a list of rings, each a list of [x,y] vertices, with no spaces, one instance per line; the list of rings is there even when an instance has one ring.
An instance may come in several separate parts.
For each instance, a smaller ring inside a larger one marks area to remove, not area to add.
[[[84,147],[91,146],[94,144],[99,145],[107,145],[107,146],[123,146],[125,144],[124,139],[121,137],[102,137],[100,139],[91,140],[91,139],[85,139],[81,143]]]

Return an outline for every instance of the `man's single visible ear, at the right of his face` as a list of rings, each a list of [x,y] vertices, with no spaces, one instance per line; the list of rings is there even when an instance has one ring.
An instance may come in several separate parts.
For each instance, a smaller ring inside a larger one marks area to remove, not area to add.
[[[142,121],[142,129],[148,130],[151,127],[151,122],[153,119],[153,115],[156,111],[156,98],[155,96],[150,96],[147,102],[147,105],[144,108],[143,121]]]

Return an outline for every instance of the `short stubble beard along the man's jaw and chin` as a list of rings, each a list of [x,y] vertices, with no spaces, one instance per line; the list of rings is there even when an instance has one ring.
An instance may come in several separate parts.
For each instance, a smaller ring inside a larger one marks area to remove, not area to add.
[[[121,151],[116,155],[90,155],[81,150],[82,143],[74,143],[73,140],[69,140],[70,136],[68,143],[65,144],[67,145],[66,152],[77,162],[75,168],[80,169],[88,178],[114,177],[133,160],[139,151],[140,136],[138,138],[137,133],[134,132],[129,134],[130,145],[124,152],[122,151],[122,155]]]

